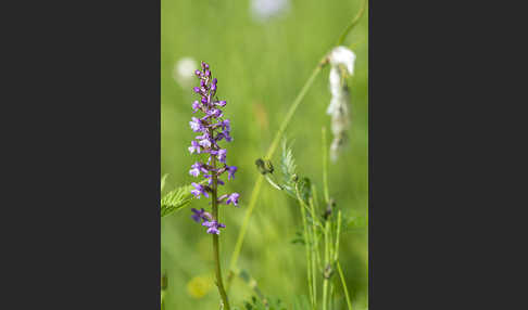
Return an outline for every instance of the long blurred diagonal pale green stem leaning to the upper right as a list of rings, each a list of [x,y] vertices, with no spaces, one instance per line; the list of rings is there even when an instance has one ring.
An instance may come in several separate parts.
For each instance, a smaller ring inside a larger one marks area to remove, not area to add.
[[[363,13],[365,11],[365,5],[366,5],[366,0],[364,0],[363,7],[357,12],[357,14],[354,17],[354,20],[352,20],[352,22],[347,26],[347,28],[344,28],[343,33],[339,37],[339,40],[338,40],[338,44],[337,46],[340,46],[344,41],[344,39],[347,38],[348,34],[357,24],[359,20],[361,18],[361,16],[363,15]],[[288,127],[288,125],[289,125],[289,122],[291,120],[291,117],[293,116],[293,114],[296,113],[297,108],[301,104],[302,100],[306,95],[310,87],[312,87],[315,78],[317,77],[317,75],[320,73],[322,68],[326,64],[327,64],[327,57],[325,55],[323,57],[323,60],[314,68],[314,70],[312,72],[312,75],[309,77],[309,79],[306,80],[306,82],[302,87],[301,91],[299,92],[299,94],[294,99],[293,103],[291,104],[290,108],[288,109],[285,119],[280,124],[279,130],[275,134],[275,138],[274,138],[274,140],[272,142],[272,145],[267,150],[266,158],[271,158],[273,156],[273,154],[275,153],[275,151],[276,151],[276,148],[278,146],[278,143],[279,143],[280,139],[282,138],[282,134],[285,133],[286,128]],[[248,210],[246,211],[246,216],[244,216],[244,219],[243,219],[243,222],[242,222],[242,227],[240,228],[240,232],[239,232],[238,237],[237,237],[237,243],[235,244],[235,248],[232,250],[231,259],[230,259],[230,262],[229,262],[229,275],[227,276],[227,288],[229,288],[230,283],[232,281],[232,275],[234,275],[232,270],[237,267],[238,257],[240,256],[240,250],[242,248],[243,238],[246,237],[246,232],[248,230],[249,220],[251,218],[251,215],[253,214],[253,209],[256,206],[256,199],[259,197],[259,194],[261,193],[261,188],[262,188],[263,179],[264,179],[264,177],[262,175],[260,175],[257,177],[256,182],[255,182],[255,185],[253,188],[253,192],[251,193],[251,198],[250,198],[250,202],[249,202]]]

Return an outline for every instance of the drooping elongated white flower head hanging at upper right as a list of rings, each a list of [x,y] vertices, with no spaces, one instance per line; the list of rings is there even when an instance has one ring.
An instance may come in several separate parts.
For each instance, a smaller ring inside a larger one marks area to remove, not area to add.
[[[354,74],[355,54],[345,47],[337,47],[329,54],[331,100],[326,113],[331,117],[334,140],[330,145],[330,158],[336,162],[347,142],[347,130],[350,127],[350,92],[345,82],[347,75]]]

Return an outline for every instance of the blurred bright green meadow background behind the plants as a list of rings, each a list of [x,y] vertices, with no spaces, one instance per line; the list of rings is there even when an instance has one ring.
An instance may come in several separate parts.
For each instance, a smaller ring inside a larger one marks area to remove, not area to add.
[[[183,57],[192,57],[197,64],[208,62],[218,79],[218,96],[228,102],[224,111],[235,139],[227,145],[228,164],[239,170],[222,193],[236,191],[241,197],[239,209],[221,208],[222,222],[227,225],[221,235],[224,275],[257,177],[254,160],[264,156],[289,105],[361,5],[359,0],[293,0],[280,15],[255,21],[250,0],[162,0],[161,173],[168,173],[165,191],[196,180],[188,171],[197,156],[187,151],[194,137],[188,122],[193,116],[196,80],[190,86],[178,83],[176,63]],[[368,212],[367,15],[344,43],[354,43],[357,56],[354,76],[349,79],[352,126],[348,147],[329,165],[330,196],[348,218],[359,218],[356,222]],[[287,129],[298,170],[317,185],[319,197],[322,127],[330,127],[325,113],[330,102],[328,72],[327,67],[317,76]],[[327,139],[329,143],[329,130]],[[278,151],[273,158],[276,166]],[[161,220],[162,272],[168,276],[166,309],[218,309],[211,236],[190,219],[190,207],[206,208],[206,201],[193,201]],[[304,249],[291,244],[301,228],[298,204],[265,182],[239,267],[251,273],[265,295],[287,305],[307,295]],[[354,309],[367,308],[367,243],[366,225],[341,235],[340,260]],[[336,309],[345,309],[342,288],[336,288]],[[229,295],[232,306],[242,306],[252,292],[235,279]]]

